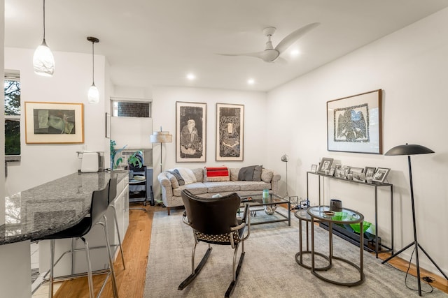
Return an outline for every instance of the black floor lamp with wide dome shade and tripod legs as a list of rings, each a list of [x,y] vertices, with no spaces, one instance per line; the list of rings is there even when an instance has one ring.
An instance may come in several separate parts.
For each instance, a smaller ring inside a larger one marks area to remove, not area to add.
[[[386,260],[384,260],[382,262],[382,264],[384,264],[385,262],[388,262],[388,260],[391,260],[395,256],[397,256],[400,253],[402,253],[403,251],[407,250],[407,248],[409,248],[411,246],[414,246],[416,268],[417,268],[417,280],[418,280],[418,287],[419,287],[419,296],[421,296],[419,248],[421,249],[421,251],[423,251],[423,253],[425,253],[425,255],[428,257],[428,259],[431,262],[433,262],[433,265],[435,267],[437,267],[437,269],[439,269],[440,273],[442,273],[444,278],[448,279],[448,276],[443,273],[442,269],[440,269],[440,267],[438,267],[437,264],[435,264],[434,260],[428,255],[428,253],[426,253],[426,251],[423,249],[423,247],[421,247],[421,245],[419,244],[419,241],[417,241],[416,221],[415,221],[415,207],[414,207],[414,188],[412,187],[411,155],[414,155],[414,154],[430,154],[430,153],[434,153],[434,151],[429,149],[429,148],[426,148],[424,146],[416,145],[416,144],[405,144],[405,145],[400,145],[400,146],[397,146],[397,147],[393,147],[392,149],[387,151],[386,154],[384,154],[384,155],[407,155],[407,163],[409,165],[409,183],[410,183],[410,186],[411,186],[412,223],[414,225],[414,241],[409,243],[407,246],[402,248],[400,251],[398,251],[398,252],[394,253],[393,255],[391,255]]]

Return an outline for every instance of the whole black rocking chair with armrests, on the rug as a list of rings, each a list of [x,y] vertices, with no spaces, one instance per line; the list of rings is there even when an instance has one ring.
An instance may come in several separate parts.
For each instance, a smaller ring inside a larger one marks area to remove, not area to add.
[[[183,204],[186,211],[183,212],[183,223],[193,228],[195,237],[195,246],[191,256],[192,272],[185,281],[179,285],[179,290],[183,290],[189,285],[204,267],[211,253],[211,244],[229,245],[233,248],[233,274],[232,283],[230,283],[225,297],[230,297],[237,279],[239,271],[244,260],[244,241],[251,233],[251,222],[248,212],[248,204],[244,206],[243,217],[237,217],[237,212],[241,204],[241,199],[237,193],[231,193],[221,198],[200,198],[184,190],[181,193]],[[244,230],[247,227],[246,236]],[[195,251],[196,245],[200,242],[209,244],[209,248],[202,258],[201,262],[195,268]],[[237,251],[241,244],[241,255],[237,266]]]

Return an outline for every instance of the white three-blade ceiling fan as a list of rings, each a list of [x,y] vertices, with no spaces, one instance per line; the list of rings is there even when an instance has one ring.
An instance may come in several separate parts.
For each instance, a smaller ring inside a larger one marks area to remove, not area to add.
[[[265,61],[265,62],[274,62],[274,61],[278,61],[280,59],[284,60],[279,56],[281,54],[283,54],[283,52],[285,52],[288,49],[288,47],[290,47],[290,45],[295,43],[295,41],[297,39],[304,36],[304,34],[306,34],[308,31],[311,31],[311,29],[314,29],[315,27],[317,27],[320,24],[321,23],[307,24],[304,27],[301,27],[301,28],[293,31],[288,36],[283,38],[283,40],[281,40],[281,42],[275,48],[272,46],[271,37],[272,37],[272,35],[274,35],[276,28],[275,27],[267,27],[267,28],[263,29],[263,34],[265,34],[265,36],[267,36],[267,42],[266,42],[266,47],[265,47],[264,51],[241,53],[241,54],[218,54],[218,55],[255,57],[255,58],[260,58],[260,59],[262,59],[262,61]]]

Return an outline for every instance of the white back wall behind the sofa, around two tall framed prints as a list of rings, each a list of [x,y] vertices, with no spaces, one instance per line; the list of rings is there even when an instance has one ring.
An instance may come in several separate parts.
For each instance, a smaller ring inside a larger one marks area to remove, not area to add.
[[[207,162],[176,163],[176,101],[207,103]],[[244,104],[244,161],[215,161],[216,147],[216,103]],[[218,89],[200,89],[188,87],[153,88],[153,127],[169,131],[173,142],[163,144],[163,170],[171,167],[204,167],[228,165],[241,167],[268,163],[263,156],[260,144],[267,141],[265,134],[267,123],[266,94],[262,92],[226,91]],[[267,165],[265,165],[267,167]],[[153,144],[153,167],[155,196],[160,193],[157,175],[160,173],[160,144]]]

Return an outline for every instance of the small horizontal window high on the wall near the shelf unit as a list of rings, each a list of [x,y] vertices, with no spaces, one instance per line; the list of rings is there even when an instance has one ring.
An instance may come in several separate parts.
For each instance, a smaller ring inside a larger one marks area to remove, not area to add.
[[[151,118],[151,102],[113,98],[112,116]]]

